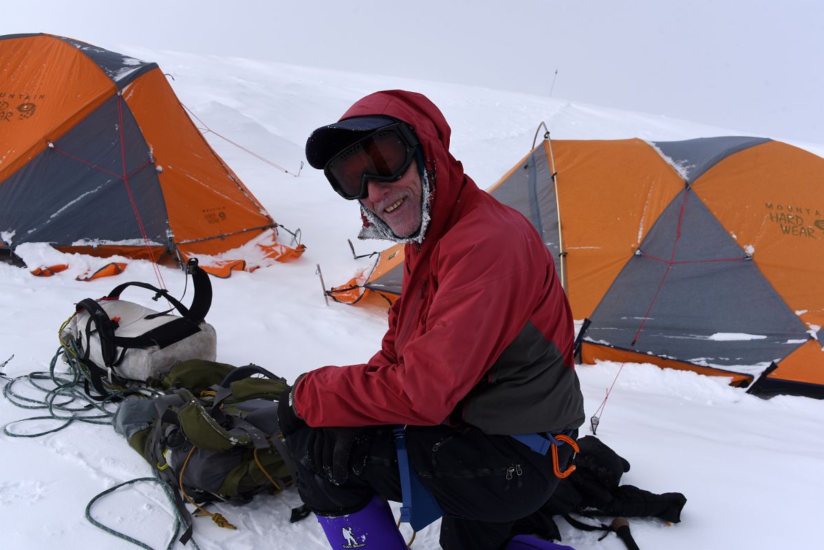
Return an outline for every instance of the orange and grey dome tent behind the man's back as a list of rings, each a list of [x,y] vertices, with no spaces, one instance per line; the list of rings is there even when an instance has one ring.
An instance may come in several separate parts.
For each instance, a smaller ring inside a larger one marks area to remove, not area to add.
[[[545,140],[489,193],[554,253],[583,362],[824,397],[821,157],[758,137]],[[401,262],[348,286],[398,296]]]

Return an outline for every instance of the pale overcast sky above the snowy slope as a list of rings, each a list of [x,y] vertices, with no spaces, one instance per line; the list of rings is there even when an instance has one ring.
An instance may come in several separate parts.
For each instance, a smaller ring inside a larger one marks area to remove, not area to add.
[[[41,0],[0,19],[24,32],[551,91],[824,142],[822,0]]]

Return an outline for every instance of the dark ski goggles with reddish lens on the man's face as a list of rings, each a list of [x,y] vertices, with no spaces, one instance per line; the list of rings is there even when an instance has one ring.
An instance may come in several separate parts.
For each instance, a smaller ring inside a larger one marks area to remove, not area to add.
[[[347,200],[366,198],[367,182],[397,181],[414,160],[418,137],[408,124],[390,124],[332,156],[323,173]]]

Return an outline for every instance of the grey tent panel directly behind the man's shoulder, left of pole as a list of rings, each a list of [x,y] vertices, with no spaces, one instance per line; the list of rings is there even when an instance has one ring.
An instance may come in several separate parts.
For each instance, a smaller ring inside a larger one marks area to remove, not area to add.
[[[527,217],[550,249],[555,271],[561,273],[555,184],[544,146],[536,147],[527,160],[489,194]]]

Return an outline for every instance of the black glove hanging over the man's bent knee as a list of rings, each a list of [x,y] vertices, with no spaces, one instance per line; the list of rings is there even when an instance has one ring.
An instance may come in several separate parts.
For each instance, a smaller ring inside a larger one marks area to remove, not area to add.
[[[315,428],[307,442],[307,467],[335,485],[343,485],[349,479],[349,471],[355,475],[363,472],[372,431],[366,427]]]

